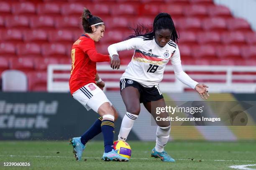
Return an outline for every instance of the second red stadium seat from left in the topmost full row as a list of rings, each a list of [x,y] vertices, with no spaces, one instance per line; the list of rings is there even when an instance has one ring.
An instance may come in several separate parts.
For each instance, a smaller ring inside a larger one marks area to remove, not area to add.
[[[36,14],[36,7],[31,2],[19,2],[12,5],[12,12],[15,15]]]

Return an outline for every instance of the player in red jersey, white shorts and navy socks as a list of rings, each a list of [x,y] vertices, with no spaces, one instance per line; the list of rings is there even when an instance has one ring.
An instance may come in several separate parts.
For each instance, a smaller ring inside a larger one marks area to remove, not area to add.
[[[100,132],[103,133],[105,152],[102,159],[105,161],[128,161],[113,149],[114,120],[117,112],[101,90],[105,83],[97,75],[96,62],[110,61],[109,55],[102,55],[95,49],[104,34],[103,21],[93,16],[88,9],[82,15],[84,35],[74,42],[72,47],[72,70],[69,88],[75,100],[79,101],[87,110],[94,110],[101,117],[81,136],[70,140],[74,148],[74,156],[81,160],[82,152],[88,140]],[[95,84],[96,82],[96,84]]]

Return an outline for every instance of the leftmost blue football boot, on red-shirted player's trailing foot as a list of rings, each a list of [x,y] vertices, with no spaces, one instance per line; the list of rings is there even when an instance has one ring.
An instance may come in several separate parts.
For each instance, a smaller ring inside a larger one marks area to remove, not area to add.
[[[73,151],[74,157],[77,160],[81,160],[82,153],[83,153],[83,151],[85,149],[84,144],[81,143],[81,137],[70,139],[70,144],[72,144],[73,149],[74,149],[74,151]]]

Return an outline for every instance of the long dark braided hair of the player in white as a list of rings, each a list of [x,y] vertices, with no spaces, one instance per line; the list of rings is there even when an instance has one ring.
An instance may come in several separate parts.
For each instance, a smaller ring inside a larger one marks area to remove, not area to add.
[[[153,38],[155,37],[155,32],[161,29],[169,29],[172,32],[171,40],[173,42],[178,42],[179,39],[172,17],[168,13],[159,13],[158,15],[156,15],[153,23],[153,29],[151,30],[149,30],[141,24],[137,25],[137,28],[132,29],[134,30],[135,33],[127,37],[126,40],[140,36],[153,40]]]

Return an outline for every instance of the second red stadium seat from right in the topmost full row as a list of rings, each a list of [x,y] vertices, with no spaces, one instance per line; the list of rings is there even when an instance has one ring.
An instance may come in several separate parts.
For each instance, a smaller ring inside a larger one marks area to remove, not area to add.
[[[187,17],[206,18],[208,17],[207,9],[202,5],[190,5],[184,7],[183,13]]]

